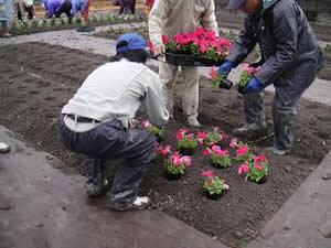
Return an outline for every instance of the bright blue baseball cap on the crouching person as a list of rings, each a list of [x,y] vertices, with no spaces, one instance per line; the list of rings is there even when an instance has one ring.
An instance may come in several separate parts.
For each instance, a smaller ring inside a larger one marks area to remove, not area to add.
[[[122,53],[129,50],[145,50],[147,43],[138,33],[125,33],[116,40],[116,52]]]

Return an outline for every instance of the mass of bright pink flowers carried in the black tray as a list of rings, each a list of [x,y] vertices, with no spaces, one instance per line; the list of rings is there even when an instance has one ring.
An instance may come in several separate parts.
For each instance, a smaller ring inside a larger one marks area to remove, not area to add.
[[[231,42],[218,36],[213,30],[199,28],[192,33],[162,35],[167,53],[186,54],[215,62],[223,61],[231,50]]]

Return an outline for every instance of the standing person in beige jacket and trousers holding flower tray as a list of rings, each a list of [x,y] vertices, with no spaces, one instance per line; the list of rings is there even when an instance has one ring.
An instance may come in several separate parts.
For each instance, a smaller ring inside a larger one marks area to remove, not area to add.
[[[173,36],[182,32],[190,33],[201,26],[218,33],[214,10],[214,0],[156,0],[148,23],[154,55],[164,53],[162,35]],[[183,111],[190,126],[200,127],[201,125],[196,119],[199,107],[197,68],[181,66],[181,69],[184,75]],[[179,66],[167,63],[159,65],[159,75],[171,117],[173,115],[173,87],[178,71]]]

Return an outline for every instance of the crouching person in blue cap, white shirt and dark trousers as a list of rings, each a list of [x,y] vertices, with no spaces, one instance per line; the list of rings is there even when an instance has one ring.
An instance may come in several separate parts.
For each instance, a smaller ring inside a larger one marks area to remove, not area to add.
[[[147,129],[135,128],[137,109],[145,103],[149,120],[157,127],[169,119],[159,77],[143,65],[149,58],[146,46],[140,34],[120,35],[116,55],[87,76],[60,116],[64,144],[88,157],[88,196],[106,190],[105,160],[125,159],[109,193],[109,207],[117,211],[150,203],[148,197],[139,197],[138,191],[152,165],[157,139]]]

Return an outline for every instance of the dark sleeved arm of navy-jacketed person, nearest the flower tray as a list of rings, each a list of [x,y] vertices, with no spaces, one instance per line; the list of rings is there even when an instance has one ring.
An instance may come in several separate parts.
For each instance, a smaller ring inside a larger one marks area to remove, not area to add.
[[[254,30],[249,18],[245,18],[244,29],[241,31],[238,40],[232,47],[226,60],[234,63],[234,67],[241,64],[247,55],[254,50],[257,40],[254,35]]]

